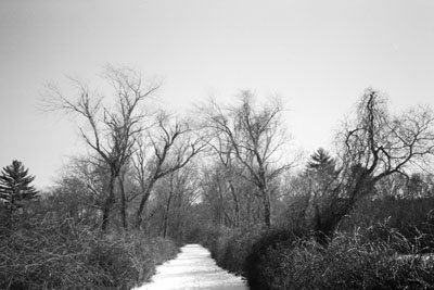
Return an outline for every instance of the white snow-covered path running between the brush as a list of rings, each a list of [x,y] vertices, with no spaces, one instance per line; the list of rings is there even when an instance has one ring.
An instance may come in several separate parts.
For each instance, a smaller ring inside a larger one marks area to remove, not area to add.
[[[156,267],[151,282],[133,290],[247,290],[241,277],[219,266],[209,251],[200,244],[188,244],[175,260]]]

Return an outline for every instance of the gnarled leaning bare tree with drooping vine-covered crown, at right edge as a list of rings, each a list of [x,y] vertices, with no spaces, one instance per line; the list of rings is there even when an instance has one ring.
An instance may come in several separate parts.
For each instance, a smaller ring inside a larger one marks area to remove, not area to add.
[[[434,114],[430,108],[410,109],[399,115],[387,110],[386,99],[367,89],[354,119],[337,136],[341,161],[335,201],[323,218],[321,231],[334,231],[355,203],[381,179],[407,175],[434,154]]]

